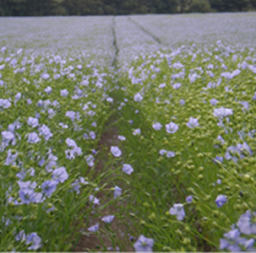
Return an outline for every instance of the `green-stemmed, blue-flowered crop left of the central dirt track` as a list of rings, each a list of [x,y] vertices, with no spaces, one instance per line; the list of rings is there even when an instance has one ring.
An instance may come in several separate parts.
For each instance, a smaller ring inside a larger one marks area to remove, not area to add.
[[[71,250],[97,215],[112,81],[88,60],[0,52],[1,250]]]

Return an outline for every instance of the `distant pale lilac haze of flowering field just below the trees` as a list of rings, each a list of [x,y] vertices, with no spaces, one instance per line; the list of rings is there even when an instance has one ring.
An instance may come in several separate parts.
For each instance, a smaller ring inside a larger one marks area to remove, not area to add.
[[[0,46],[39,51],[84,51],[127,62],[157,48],[256,45],[256,13],[150,14],[133,16],[0,18]]]

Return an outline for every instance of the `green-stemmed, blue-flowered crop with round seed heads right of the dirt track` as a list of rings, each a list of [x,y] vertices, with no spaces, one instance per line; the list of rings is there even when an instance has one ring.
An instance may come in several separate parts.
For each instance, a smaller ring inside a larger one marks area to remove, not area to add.
[[[254,250],[255,62],[219,41],[133,63],[119,131],[136,250]]]

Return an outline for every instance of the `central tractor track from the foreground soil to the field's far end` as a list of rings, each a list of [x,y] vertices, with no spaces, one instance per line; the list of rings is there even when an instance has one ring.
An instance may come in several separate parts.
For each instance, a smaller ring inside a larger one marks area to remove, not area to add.
[[[112,61],[112,67],[114,72],[117,71],[118,53],[119,53],[119,48],[117,46],[117,35],[116,35],[115,26],[116,26],[116,19],[115,17],[113,17],[112,35],[113,35],[113,47],[115,48],[115,56]],[[117,105],[117,103],[115,103],[115,105]],[[115,110],[115,105],[112,106],[112,110]],[[109,152],[112,146],[118,146],[118,144],[120,144],[120,140],[118,139],[118,129],[117,129],[117,126],[115,126],[116,121],[117,121],[117,115],[115,113],[109,117],[108,121],[106,121],[105,129],[102,132],[101,139],[97,145],[97,150],[100,151],[100,153],[101,152],[106,153],[106,150]],[[106,153],[103,158],[98,159],[96,161],[95,173],[97,174],[102,173],[104,172],[104,170],[106,170],[105,162],[107,159],[108,159],[108,156]],[[113,180],[115,180],[114,176],[113,176]],[[125,186],[122,186],[122,187],[125,187]],[[96,194],[96,197],[98,197],[100,200],[105,199],[106,202],[111,201],[111,198],[112,198],[112,197],[106,198],[106,194],[103,192]],[[104,208],[104,210],[101,210],[99,214],[101,215],[101,217],[106,215],[112,215],[118,212],[117,208],[118,208],[117,204],[115,206],[109,205],[106,208]],[[91,224],[100,223],[100,228],[102,229],[103,227],[100,217],[92,218],[90,223]],[[133,251],[133,248],[131,247],[131,242],[128,237],[129,229],[127,225],[118,221],[117,218],[114,218],[111,224],[111,228],[117,236],[116,239],[120,241],[121,245],[123,246],[123,249],[120,249],[120,250]],[[84,228],[84,230],[86,229],[88,228]],[[103,235],[101,236],[101,239],[100,239],[100,237],[97,234],[90,234],[90,236],[82,235],[77,245],[74,247],[73,251],[91,251],[91,250],[98,251],[104,248],[107,249],[108,251],[119,251],[118,248],[116,249],[112,248],[112,241],[110,238],[108,238],[106,235]]]

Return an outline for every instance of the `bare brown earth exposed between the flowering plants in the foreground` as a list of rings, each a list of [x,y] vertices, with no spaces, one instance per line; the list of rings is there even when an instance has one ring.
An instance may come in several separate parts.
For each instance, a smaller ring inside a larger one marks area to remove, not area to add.
[[[115,126],[106,126],[106,131],[102,134],[101,140],[98,144],[98,150],[101,152],[104,150],[110,150],[111,146],[118,146],[118,143],[120,141],[118,140],[118,132],[117,128]],[[107,152],[106,152],[107,153]],[[104,170],[106,170],[105,162],[107,160],[107,154],[106,157],[103,159],[100,159],[97,161],[97,164],[95,165],[95,173],[101,173]],[[109,181],[109,179],[108,179]],[[104,183],[104,182],[103,182]],[[104,192],[101,192],[96,195],[100,200],[105,199],[106,202],[109,202],[112,200],[113,195],[106,196]],[[104,203],[101,203],[101,205]],[[108,205],[104,210],[100,211],[101,218],[106,215],[114,215],[115,213],[118,213],[117,210],[117,203],[115,205]],[[122,213],[120,213],[122,215]],[[115,217],[110,224],[110,227],[112,231],[115,233],[115,241],[118,242],[117,245],[112,245],[112,241],[110,239],[109,232],[107,232],[107,229],[104,226],[104,222],[101,221],[101,218],[92,218],[91,225],[94,225],[95,223],[100,223],[100,229],[106,230],[106,234],[101,234],[101,240],[99,239],[98,234],[85,234],[82,235],[79,239],[78,244],[75,246],[74,251],[94,251],[94,250],[106,250],[108,248],[108,251],[118,251],[119,247],[113,248],[113,246],[121,245],[122,251],[133,251],[133,247],[131,244],[131,241],[129,240],[129,230],[132,230],[128,227],[128,224],[125,224],[123,222],[120,222],[117,217]],[[88,228],[84,228],[84,230],[87,230]],[[104,244],[104,245],[103,245]]]

